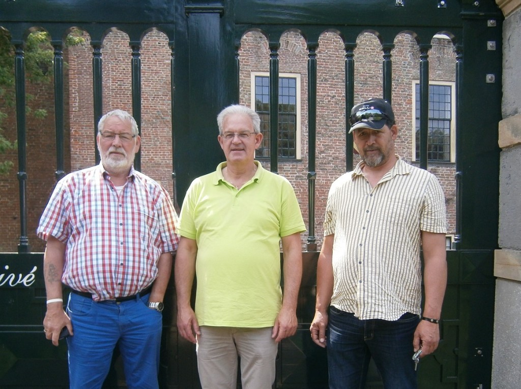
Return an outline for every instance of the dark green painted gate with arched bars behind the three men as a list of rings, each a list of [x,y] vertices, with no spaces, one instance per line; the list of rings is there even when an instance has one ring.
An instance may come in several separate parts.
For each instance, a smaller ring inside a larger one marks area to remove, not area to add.
[[[314,311],[316,182],[316,49],[320,34],[342,37],[345,56],[345,112],[354,104],[356,62],[353,50],[363,31],[376,32],[382,50],[381,95],[392,100],[391,48],[394,37],[411,32],[420,49],[420,158],[427,167],[428,50],[433,35],[451,37],[456,51],[456,234],[448,251],[449,286],[442,314],[442,342],[422,363],[421,388],[489,388],[491,381],[494,279],[493,250],[498,237],[499,148],[501,119],[502,16],[493,0],[2,0],[0,27],[11,33],[16,48],[16,124],[18,136],[18,193],[20,239],[18,253],[0,254],[0,387],[67,387],[66,348],[52,347],[43,337],[45,291],[42,254],[31,253],[27,230],[27,175],[24,38],[33,28],[52,37],[56,177],[64,173],[63,37],[71,27],[89,32],[92,46],[92,123],[103,114],[103,39],[113,28],[125,31],[132,47],[132,112],[141,123],[140,49],[144,33],[156,28],[168,36],[172,60],[171,116],[173,178],[181,202],[190,181],[215,168],[221,153],[215,141],[215,116],[238,101],[238,50],[246,31],[262,31],[270,51],[271,149],[277,149],[278,50],[284,31],[299,31],[306,39],[308,116],[308,243],[300,293],[299,331],[282,342],[275,386],[327,387],[326,358],[312,344],[308,327]],[[49,86],[51,87],[51,86]],[[352,141],[346,137],[346,169],[352,167]],[[194,152],[204,150],[204,153]],[[93,153],[95,152],[93,147]],[[204,154],[204,155],[203,155]],[[49,163],[52,163],[49,161]],[[271,152],[272,171],[278,169]],[[140,167],[138,157],[136,166]],[[170,286],[164,313],[160,383],[162,387],[196,388],[195,353],[178,339],[175,295]],[[368,387],[381,387],[370,372]],[[117,355],[107,387],[123,387]],[[481,386],[480,386],[481,385]]]

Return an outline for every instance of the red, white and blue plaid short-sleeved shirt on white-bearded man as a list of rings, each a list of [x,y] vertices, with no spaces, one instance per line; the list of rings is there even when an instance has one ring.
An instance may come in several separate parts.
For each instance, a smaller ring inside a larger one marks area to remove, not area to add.
[[[66,244],[61,281],[103,301],[152,284],[159,256],[177,250],[177,223],[170,197],[156,181],[132,167],[118,195],[100,164],[56,184],[36,234]]]

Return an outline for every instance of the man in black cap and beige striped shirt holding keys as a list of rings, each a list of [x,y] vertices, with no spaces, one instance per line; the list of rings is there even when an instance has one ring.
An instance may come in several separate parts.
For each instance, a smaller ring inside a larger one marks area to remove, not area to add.
[[[384,387],[413,389],[413,354],[428,355],[439,342],[445,198],[434,175],[395,155],[398,126],[387,101],[359,103],[350,123],[362,161],[329,191],[311,336],[327,345],[330,388],[365,387],[373,357]]]

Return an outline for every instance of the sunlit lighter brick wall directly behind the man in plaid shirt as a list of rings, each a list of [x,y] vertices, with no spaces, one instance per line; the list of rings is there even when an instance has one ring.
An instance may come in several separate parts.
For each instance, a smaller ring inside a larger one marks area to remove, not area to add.
[[[92,48],[87,37],[84,47],[74,47],[71,69],[71,149],[72,170],[94,164],[94,127],[92,114]],[[142,42],[141,52],[141,170],[159,181],[173,195],[172,124],[170,108],[170,58],[168,38],[152,31]],[[128,36],[109,33],[103,42],[103,112],[123,109],[132,113],[131,57]],[[74,69],[74,70],[73,70]]]

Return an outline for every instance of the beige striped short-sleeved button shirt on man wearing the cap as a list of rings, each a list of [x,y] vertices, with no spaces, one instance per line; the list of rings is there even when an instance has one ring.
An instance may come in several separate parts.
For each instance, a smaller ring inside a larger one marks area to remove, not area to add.
[[[324,234],[334,234],[331,305],[363,320],[419,315],[420,231],[446,233],[443,190],[436,176],[400,157],[374,188],[362,166],[329,190]]]

